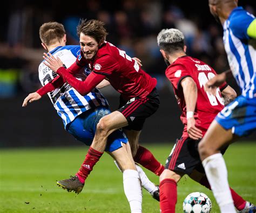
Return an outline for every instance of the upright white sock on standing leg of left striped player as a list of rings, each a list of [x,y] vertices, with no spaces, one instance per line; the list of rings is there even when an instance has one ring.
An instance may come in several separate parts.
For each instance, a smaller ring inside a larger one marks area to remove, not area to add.
[[[142,187],[139,173],[136,170],[126,169],[123,172],[124,193],[130,203],[131,213],[142,212]]]

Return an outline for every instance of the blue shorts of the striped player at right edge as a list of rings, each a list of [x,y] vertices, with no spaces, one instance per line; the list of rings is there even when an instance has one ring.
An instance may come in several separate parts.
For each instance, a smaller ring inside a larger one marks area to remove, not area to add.
[[[232,129],[233,134],[248,136],[256,130],[256,97],[238,96],[215,117],[225,129]]]

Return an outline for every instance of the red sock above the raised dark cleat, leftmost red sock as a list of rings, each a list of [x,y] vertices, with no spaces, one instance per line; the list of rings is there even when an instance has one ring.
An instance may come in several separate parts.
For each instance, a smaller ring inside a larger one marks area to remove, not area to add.
[[[90,146],[85,156],[85,160],[76,174],[81,183],[84,183],[85,179],[92,171],[93,166],[98,162],[100,157],[102,157],[102,154],[103,152],[99,152]]]

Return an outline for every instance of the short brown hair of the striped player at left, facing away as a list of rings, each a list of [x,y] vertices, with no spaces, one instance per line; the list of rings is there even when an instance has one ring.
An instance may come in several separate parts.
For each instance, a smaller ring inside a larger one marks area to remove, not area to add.
[[[44,23],[39,28],[39,37],[41,41],[46,45],[52,45],[57,41],[60,41],[66,34],[63,24],[58,22]]]

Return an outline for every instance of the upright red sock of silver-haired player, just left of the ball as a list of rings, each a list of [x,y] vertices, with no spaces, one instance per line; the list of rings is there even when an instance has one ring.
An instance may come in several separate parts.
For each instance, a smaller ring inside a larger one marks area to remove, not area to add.
[[[174,213],[177,203],[177,183],[173,179],[166,178],[160,182],[160,212]]]

